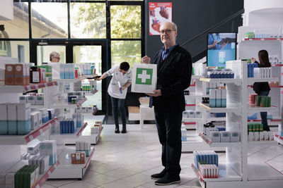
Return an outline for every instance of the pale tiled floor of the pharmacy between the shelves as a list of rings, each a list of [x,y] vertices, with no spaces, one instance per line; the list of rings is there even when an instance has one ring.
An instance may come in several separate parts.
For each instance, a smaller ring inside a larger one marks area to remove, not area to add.
[[[104,125],[102,137],[95,146],[96,151],[83,180],[47,180],[43,188],[158,187],[150,178],[151,174],[163,170],[161,145],[155,125],[145,125],[144,130],[141,130],[139,125],[128,125],[127,130],[127,134],[114,134],[114,125]],[[270,164],[279,161],[283,156],[283,146],[275,145],[273,149],[277,154],[273,156],[273,162],[269,161]],[[256,159],[257,151],[258,149],[253,148],[248,154]],[[225,163],[225,156],[225,153],[219,153],[222,163]],[[267,161],[267,158],[264,160]],[[181,183],[166,187],[200,187],[195,173],[190,168],[192,161],[192,153],[182,153]],[[283,170],[282,162],[280,169]]]

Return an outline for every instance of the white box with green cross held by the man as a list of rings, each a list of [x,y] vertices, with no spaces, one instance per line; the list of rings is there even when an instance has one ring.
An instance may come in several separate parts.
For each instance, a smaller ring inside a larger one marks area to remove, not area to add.
[[[157,82],[156,64],[134,63],[132,68],[132,92],[154,93]]]

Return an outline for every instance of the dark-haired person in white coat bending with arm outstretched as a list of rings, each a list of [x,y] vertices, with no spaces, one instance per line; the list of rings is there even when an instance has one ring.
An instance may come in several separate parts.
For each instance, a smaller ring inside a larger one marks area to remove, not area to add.
[[[111,82],[108,87],[108,94],[112,101],[112,114],[115,122],[115,133],[120,133],[119,130],[119,111],[122,119],[122,133],[126,133],[126,110],[125,99],[127,95],[127,87],[132,83],[132,70],[129,68],[129,63],[122,62],[120,65],[115,65],[110,70],[96,80],[103,80],[105,77],[112,75]]]

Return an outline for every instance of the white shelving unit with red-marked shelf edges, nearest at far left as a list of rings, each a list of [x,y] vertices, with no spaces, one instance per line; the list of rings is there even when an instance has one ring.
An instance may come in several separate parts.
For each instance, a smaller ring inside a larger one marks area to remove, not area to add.
[[[1,99],[0,102],[7,102],[5,95],[8,95],[13,102],[19,102],[18,94],[33,91],[35,89],[43,89],[47,91],[47,87],[57,87],[57,82],[45,82],[40,84],[28,84],[25,86],[0,86]],[[4,96],[4,97],[3,97]],[[59,122],[58,118],[53,118],[47,123],[37,127],[36,130],[32,130],[27,135],[0,135],[0,175],[6,175],[8,172],[16,172],[23,165],[27,165],[27,161],[20,160],[21,158],[21,145],[28,144],[33,139],[44,136],[47,138],[50,134],[50,128]],[[45,181],[54,173],[54,170],[59,166],[60,162],[50,165],[50,168],[42,175],[39,176],[39,181],[35,184],[36,188],[42,187]],[[5,187],[5,185],[4,185]]]

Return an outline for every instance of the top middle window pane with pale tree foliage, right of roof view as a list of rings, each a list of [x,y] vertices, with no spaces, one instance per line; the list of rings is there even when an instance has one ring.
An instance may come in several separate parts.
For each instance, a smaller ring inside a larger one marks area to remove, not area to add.
[[[70,5],[71,38],[106,38],[105,3]]]

